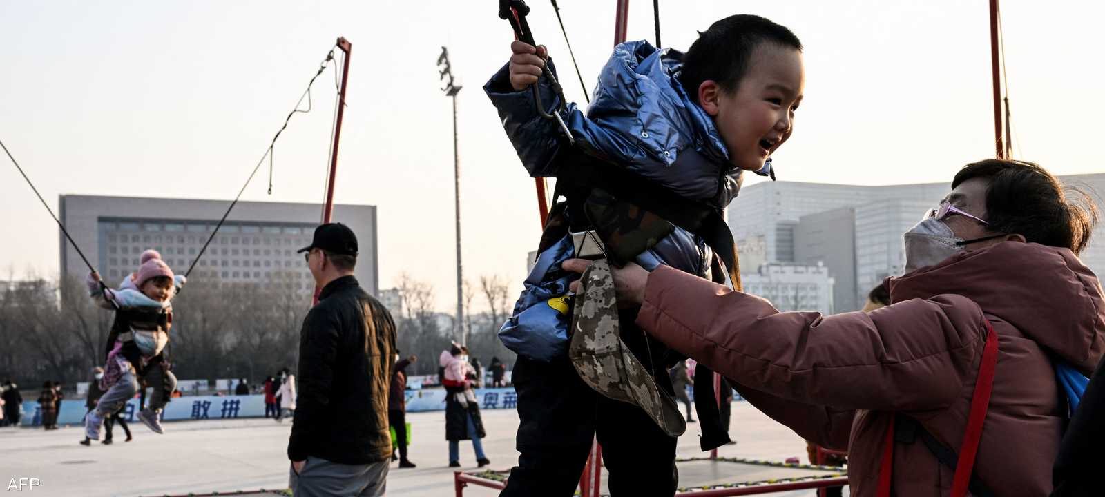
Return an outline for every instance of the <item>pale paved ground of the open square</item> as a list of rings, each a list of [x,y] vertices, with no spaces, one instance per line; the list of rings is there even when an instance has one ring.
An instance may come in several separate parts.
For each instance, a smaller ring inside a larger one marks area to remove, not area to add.
[[[797,456],[806,462],[804,442],[790,430],[764,416],[745,402],[733,404],[733,430],[738,441],[720,450],[727,457],[783,461]],[[507,469],[517,462],[514,434],[518,417],[513,410],[483,412],[488,436],[484,448],[492,468]],[[414,469],[394,465],[388,478],[389,496],[439,497],[453,495],[453,473],[448,467],[442,412],[411,413],[411,461]],[[272,420],[211,420],[166,424],[157,435],[139,423],[131,430],[134,442],[123,443],[116,429],[114,445],[77,444],[80,427],[0,429],[0,484],[11,478],[39,478],[38,496],[155,496],[189,493],[286,488],[285,456],[290,423]],[[702,456],[697,425],[688,425],[680,438],[678,456]],[[471,443],[461,443],[464,469],[475,469]],[[27,491],[27,490],[24,490]],[[812,496],[812,490],[791,496]],[[465,496],[497,495],[470,486]]]

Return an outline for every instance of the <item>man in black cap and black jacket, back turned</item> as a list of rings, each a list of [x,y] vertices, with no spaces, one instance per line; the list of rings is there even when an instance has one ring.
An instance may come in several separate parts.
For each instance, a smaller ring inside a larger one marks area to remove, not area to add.
[[[396,325],[352,276],[357,236],[349,228],[323,224],[298,252],[322,293],[299,335],[299,395],[287,444],[292,490],[296,497],[382,496]]]

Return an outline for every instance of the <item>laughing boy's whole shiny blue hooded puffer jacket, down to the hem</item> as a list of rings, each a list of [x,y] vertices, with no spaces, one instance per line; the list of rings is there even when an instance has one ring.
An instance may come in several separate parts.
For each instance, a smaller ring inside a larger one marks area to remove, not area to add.
[[[588,154],[681,197],[723,209],[737,194],[740,169],[729,163],[713,119],[674,77],[682,56],[671,49],[657,51],[644,41],[618,45],[599,76],[587,116],[569,103],[561,117],[576,146]],[[545,108],[558,106],[559,98],[546,80],[538,84]],[[514,91],[508,65],[492,76],[484,91],[529,175],[556,177],[561,131],[537,114],[533,93]],[[680,161],[687,150],[706,160]],[[770,162],[757,172],[769,175]],[[560,263],[571,258],[572,252],[570,236],[566,236],[538,256],[511,319],[499,330],[511,350],[541,361],[567,351],[571,317],[562,297],[578,275],[566,273]],[[664,264],[698,276],[707,274],[712,261],[703,240],[678,226],[636,257],[649,271]]]

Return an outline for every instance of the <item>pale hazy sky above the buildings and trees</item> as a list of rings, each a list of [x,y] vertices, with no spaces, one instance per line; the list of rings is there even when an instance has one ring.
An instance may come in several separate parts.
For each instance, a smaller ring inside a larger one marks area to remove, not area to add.
[[[549,2],[529,2],[539,43],[582,102]],[[588,85],[613,42],[613,0],[560,0]],[[1099,146],[1102,2],[1002,2],[1015,151],[1055,173],[1105,171]],[[992,156],[987,2],[661,0],[665,46],[734,13],[789,27],[806,45],[806,99],[777,154],[780,180],[949,181]],[[651,2],[629,38],[653,39]],[[465,274],[520,289],[539,223],[526,176],[481,86],[508,56],[497,2],[0,0],[0,139],[46,200],[66,193],[230,200],[334,40],[352,42],[336,198],[379,207],[380,285],[429,281],[455,295],[448,45],[459,97]],[[320,202],[333,74],[315,112],[276,145],[275,186],[244,199]],[[748,183],[746,183],[748,184]],[[0,157],[0,266],[59,269],[57,230]],[[135,213],[140,215],[141,213]]]

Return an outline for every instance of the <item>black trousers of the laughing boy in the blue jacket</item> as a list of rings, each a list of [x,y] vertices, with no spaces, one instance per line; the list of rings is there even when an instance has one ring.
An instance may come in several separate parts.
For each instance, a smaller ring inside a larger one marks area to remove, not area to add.
[[[652,352],[663,350],[657,342],[650,347]],[[657,385],[671,394],[667,371],[657,363],[654,373]],[[568,358],[545,363],[518,356],[513,383],[518,394],[517,448],[522,454],[501,497],[572,495],[596,435],[611,496],[675,494],[676,438],[641,408],[596,393],[579,379]]]

